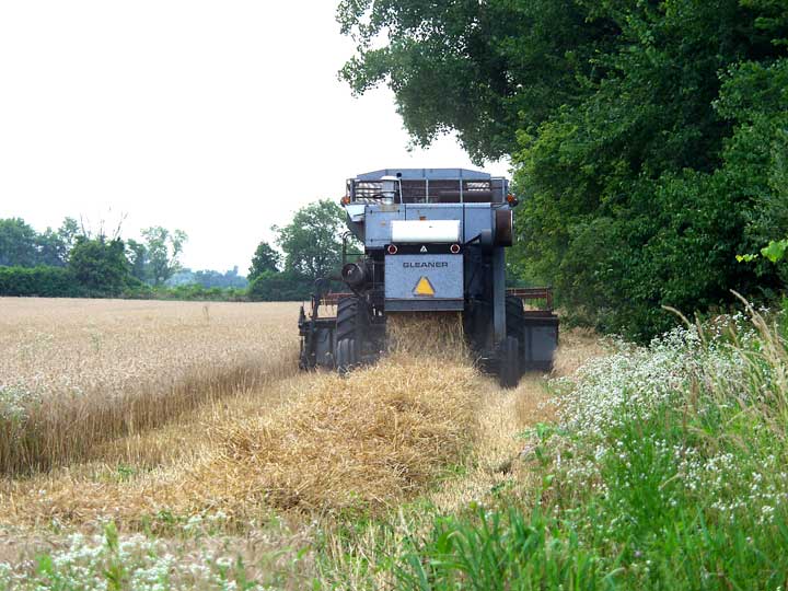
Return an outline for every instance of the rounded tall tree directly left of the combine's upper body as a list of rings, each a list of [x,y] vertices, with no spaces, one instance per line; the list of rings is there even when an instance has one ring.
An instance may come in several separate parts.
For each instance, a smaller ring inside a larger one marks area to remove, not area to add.
[[[340,231],[345,211],[334,201],[323,199],[302,207],[292,221],[278,232],[277,244],[285,253],[286,270],[310,279],[337,271],[341,263]]]

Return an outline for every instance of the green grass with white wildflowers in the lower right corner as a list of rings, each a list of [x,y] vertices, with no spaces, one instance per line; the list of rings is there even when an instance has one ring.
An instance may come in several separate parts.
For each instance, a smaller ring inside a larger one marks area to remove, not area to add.
[[[543,489],[433,517],[397,587],[786,589],[788,352],[760,316],[732,322],[557,384],[559,424],[531,433]]]

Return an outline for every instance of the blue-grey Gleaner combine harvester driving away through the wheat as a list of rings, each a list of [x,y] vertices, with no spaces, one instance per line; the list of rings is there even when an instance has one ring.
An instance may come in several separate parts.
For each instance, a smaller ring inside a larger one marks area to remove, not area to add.
[[[364,253],[347,262],[347,293],[318,280],[309,315],[301,308],[302,369],[346,372],[385,348],[386,317],[462,313],[471,350],[500,384],[548,370],[558,318],[547,289],[506,288],[505,250],[512,245],[517,199],[502,177],[464,169],[386,169],[347,182],[347,224]],[[546,309],[525,310],[523,299]],[[321,317],[320,306],[336,305]]]

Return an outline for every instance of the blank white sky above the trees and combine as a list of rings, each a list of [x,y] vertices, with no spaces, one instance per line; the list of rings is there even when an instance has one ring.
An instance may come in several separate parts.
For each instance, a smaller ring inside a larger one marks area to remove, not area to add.
[[[189,235],[184,265],[245,274],[271,224],[408,153],[391,93],[354,99],[334,0],[0,0],[0,218],[127,213]],[[503,163],[486,171],[507,174]]]

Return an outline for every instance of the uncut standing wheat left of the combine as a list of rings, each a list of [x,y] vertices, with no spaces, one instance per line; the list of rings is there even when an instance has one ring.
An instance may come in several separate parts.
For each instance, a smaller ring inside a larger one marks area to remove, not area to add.
[[[0,299],[0,470],[90,457],[293,372],[293,304]]]

